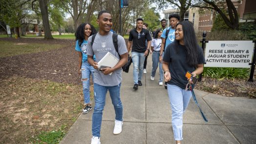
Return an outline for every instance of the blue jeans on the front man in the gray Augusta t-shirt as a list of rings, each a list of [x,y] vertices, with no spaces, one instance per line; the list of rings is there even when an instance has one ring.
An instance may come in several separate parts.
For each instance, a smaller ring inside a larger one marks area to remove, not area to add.
[[[94,112],[92,114],[92,136],[100,137],[103,109],[106,102],[107,90],[114,105],[115,119],[123,121],[123,105],[120,99],[121,83],[116,86],[102,86],[94,83]]]

